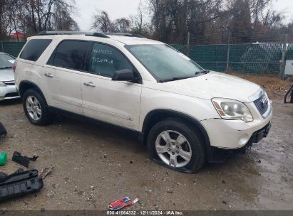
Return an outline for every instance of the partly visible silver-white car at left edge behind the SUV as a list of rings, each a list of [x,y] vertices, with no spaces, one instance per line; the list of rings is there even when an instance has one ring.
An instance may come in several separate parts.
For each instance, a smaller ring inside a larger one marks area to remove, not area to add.
[[[19,98],[14,84],[15,58],[7,53],[0,52],[0,101],[4,99]]]

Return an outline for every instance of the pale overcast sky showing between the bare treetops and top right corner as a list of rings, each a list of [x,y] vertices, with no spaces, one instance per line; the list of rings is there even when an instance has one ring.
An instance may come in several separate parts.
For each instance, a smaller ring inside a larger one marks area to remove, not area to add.
[[[146,0],[143,0],[146,1]],[[76,0],[77,21],[81,31],[91,31],[93,14],[96,10],[107,11],[110,18],[128,17],[135,14],[140,0]],[[293,21],[293,0],[273,0],[272,9],[284,12],[285,23]]]

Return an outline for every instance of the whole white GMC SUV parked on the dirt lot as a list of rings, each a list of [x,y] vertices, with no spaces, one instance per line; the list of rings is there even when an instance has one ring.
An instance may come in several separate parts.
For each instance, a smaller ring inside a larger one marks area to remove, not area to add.
[[[194,173],[269,132],[272,107],[259,85],[141,36],[44,32],[16,63],[32,124],[65,111],[137,131],[154,161],[176,171]]]

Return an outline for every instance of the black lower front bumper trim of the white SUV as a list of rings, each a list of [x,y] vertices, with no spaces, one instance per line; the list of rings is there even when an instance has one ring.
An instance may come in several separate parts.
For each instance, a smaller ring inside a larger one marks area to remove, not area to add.
[[[223,161],[232,158],[233,156],[236,156],[237,154],[244,154],[247,149],[250,149],[252,147],[252,144],[258,143],[260,140],[262,140],[264,137],[267,137],[267,134],[269,134],[269,130],[271,129],[271,122],[264,126],[262,129],[259,129],[258,131],[255,131],[255,133],[252,134],[250,137],[250,140],[247,142],[245,146],[242,148],[236,148],[236,149],[226,149],[226,148],[217,148],[212,147],[211,148],[211,156],[209,163],[222,163]]]

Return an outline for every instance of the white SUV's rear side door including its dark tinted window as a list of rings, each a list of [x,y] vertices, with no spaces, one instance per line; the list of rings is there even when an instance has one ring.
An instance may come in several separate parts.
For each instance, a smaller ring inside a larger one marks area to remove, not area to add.
[[[43,70],[46,92],[52,107],[82,113],[81,75],[88,41],[61,41]]]

